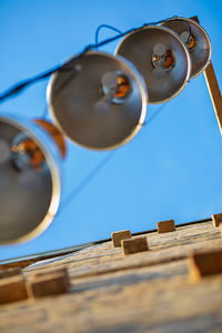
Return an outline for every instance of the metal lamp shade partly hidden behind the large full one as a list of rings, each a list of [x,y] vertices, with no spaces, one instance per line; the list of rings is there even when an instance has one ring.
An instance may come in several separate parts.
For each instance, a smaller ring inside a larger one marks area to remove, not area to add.
[[[157,74],[153,64],[157,46],[164,46],[173,57],[172,68],[161,75]],[[190,78],[189,52],[176,33],[164,27],[148,26],[127,34],[115,53],[127,58],[141,72],[147,83],[150,103],[162,103],[174,98]]]

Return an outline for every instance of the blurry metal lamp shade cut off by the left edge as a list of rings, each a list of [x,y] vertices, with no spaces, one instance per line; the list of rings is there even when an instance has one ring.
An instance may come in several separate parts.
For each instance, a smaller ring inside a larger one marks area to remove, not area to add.
[[[32,165],[22,150],[14,153],[21,142],[32,143],[41,164]],[[60,162],[57,145],[39,125],[0,114],[0,244],[30,240],[52,222],[60,202]]]

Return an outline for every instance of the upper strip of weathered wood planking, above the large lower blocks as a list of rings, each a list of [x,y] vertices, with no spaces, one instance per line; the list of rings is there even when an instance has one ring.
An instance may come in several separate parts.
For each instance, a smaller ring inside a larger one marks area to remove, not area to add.
[[[92,246],[73,255],[41,261],[30,265],[24,272],[68,266],[71,276],[109,272],[109,270],[133,269],[185,259],[193,250],[221,246],[220,230],[212,222],[178,228],[178,231],[164,234],[148,234],[148,253],[138,253],[123,258],[122,249],[113,249],[111,242]]]

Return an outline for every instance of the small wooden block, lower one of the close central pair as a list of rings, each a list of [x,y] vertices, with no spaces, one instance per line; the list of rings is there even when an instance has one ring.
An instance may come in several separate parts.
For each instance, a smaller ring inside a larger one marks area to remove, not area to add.
[[[121,245],[125,255],[149,250],[147,236],[122,240]]]

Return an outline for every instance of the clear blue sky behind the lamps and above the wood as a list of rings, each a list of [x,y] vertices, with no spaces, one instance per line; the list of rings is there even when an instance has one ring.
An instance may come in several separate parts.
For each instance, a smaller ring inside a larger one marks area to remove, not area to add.
[[[124,31],[174,14],[198,14],[212,41],[212,61],[222,87],[221,1],[0,0],[0,91],[94,42],[101,23]],[[101,30],[100,40],[112,34]],[[114,42],[101,51],[113,52],[115,47]],[[39,117],[47,84],[47,80],[39,82],[1,103],[0,112]],[[148,105],[147,119],[159,108]],[[108,157],[109,162],[64,205]],[[183,223],[209,218],[222,212],[221,169],[222,138],[201,74],[114,152],[89,151],[69,141],[59,215],[37,239],[0,246],[0,260],[97,241],[122,229],[153,229],[165,219]]]

